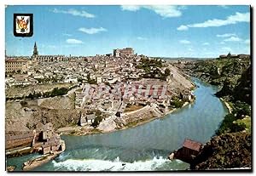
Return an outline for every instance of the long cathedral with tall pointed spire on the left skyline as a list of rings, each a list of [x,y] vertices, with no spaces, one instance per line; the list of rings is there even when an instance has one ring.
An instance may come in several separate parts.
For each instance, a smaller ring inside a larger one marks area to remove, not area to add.
[[[54,61],[66,61],[67,57],[64,55],[39,55],[37,43],[34,44],[32,60],[38,62],[54,62]]]

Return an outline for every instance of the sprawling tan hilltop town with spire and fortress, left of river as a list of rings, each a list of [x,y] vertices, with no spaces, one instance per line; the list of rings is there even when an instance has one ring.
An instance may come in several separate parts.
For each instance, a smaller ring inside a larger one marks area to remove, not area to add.
[[[39,55],[35,43],[32,56],[6,56],[5,63],[6,140],[13,156],[20,147],[32,152],[34,140],[44,154],[60,150],[59,137],[36,137],[44,133],[38,127],[50,124],[52,135],[106,133],[162,117],[195,99],[195,86],[183,72],[133,48],[75,57]]]

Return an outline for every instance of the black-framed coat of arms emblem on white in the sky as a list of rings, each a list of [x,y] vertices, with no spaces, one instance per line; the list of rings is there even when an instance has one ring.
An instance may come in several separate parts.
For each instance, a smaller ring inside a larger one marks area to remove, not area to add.
[[[14,34],[16,37],[32,36],[32,14],[14,14]]]

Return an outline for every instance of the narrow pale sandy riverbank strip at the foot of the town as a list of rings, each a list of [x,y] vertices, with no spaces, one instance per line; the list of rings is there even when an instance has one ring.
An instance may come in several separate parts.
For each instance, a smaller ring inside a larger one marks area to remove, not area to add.
[[[194,102],[191,101],[190,104]],[[174,111],[177,111],[179,109],[182,109],[186,105],[190,105],[189,102],[184,102],[183,106],[180,108],[174,108],[171,111],[166,111],[162,116],[150,116],[147,119],[138,119],[137,121],[127,123],[127,125],[121,127],[121,128],[114,128],[113,130],[110,131],[102,131],[97,128],[93,128],[91,126],[73,126],[73,127],[65,127],[65,128],[58,128],[57,133],[65,134],[65,135],[71,135],[71,136],[84,136],[84,135],[89,135],[89,134],[96,134],[96,133],[113,133],[116,131],[121,131],[125,130],[128,128],[135,128],[137,126],[141,126],[147,122],[152,122],[156,119],[164,118],[166,115],[172,114]],[[131,111],[132,113],[132,111]]]

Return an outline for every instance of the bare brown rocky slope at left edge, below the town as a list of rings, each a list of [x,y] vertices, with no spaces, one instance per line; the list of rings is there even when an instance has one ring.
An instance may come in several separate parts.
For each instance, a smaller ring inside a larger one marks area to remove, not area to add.
[[[47,99],[6,102],[5,127],[7,131],[26,131],[36,128],[39,122],[51,122],[54,128],[75,125],[79,122],[79,111],[69,96]]]

